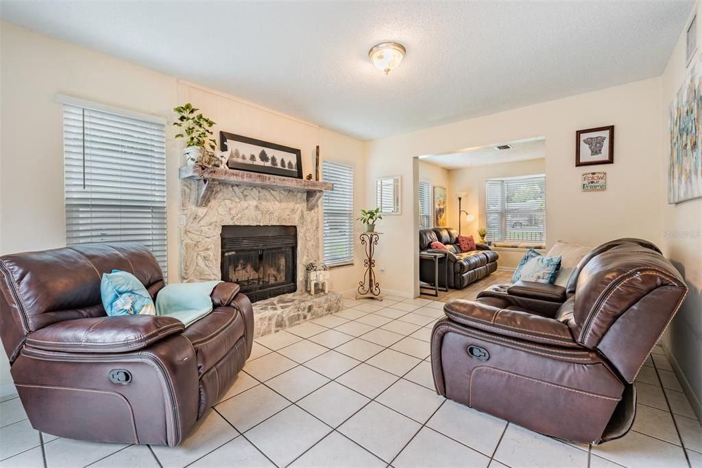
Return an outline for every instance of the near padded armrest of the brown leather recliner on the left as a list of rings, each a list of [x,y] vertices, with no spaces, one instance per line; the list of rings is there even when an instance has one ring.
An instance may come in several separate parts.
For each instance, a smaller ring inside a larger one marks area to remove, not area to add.
[[[27,344],[48,351],[124,353],[183,332],[183,322],[166,316],[112,316],[64,320],[27,336]]]

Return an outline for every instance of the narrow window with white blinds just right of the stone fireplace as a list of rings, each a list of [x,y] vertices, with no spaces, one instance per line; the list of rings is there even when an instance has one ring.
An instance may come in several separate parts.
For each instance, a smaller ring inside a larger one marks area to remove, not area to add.
[[[323,161],[322,178],[334,184],[324,192],[324,263],[353,263],[353,166]]]

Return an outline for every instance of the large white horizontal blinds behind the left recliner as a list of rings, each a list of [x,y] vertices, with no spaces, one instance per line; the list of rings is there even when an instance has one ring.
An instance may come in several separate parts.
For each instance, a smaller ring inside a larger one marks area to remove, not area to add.
[[[138,242],[166,274],[165,125],[63,105],[66,244]]]

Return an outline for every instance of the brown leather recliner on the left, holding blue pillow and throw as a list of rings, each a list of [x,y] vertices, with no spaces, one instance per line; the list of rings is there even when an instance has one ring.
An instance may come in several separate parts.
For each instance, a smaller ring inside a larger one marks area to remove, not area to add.
[[[155,299],[161,268],[145,247],[86,244],[0,257],[0,329],[34,429],[82,440],[176,446],[244,367],[253,310],[220,283],[213,311],[108,317],[102,273],[133,273]]]

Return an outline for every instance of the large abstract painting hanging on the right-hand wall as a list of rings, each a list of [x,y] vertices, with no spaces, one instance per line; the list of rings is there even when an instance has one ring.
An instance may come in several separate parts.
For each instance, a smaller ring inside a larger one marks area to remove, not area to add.
[[[702,197],[702,61],[690,67],[670,103],[668,203]]]

